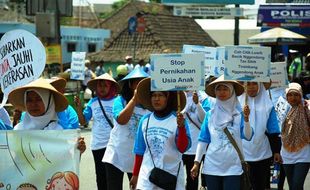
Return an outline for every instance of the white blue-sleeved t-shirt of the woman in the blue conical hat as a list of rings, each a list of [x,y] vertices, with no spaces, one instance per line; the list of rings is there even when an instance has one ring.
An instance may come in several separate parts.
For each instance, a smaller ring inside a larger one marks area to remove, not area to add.
[[[140,106],[135,106],[128,123],[121,125],[116,120],[125,106],[125,99],[122,96],[118,96],[113,104],[114,128],[111,131],[102,161],[114,165],[122,172],[132,173],[134,163],[132,150],[138,123],[140,118],[149,113],[149,111]]]

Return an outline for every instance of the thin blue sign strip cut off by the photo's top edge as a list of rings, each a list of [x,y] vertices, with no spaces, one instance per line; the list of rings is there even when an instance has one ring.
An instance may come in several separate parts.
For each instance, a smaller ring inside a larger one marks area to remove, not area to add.
[[[255,0],[161,0],[163,4],[254,4]]]

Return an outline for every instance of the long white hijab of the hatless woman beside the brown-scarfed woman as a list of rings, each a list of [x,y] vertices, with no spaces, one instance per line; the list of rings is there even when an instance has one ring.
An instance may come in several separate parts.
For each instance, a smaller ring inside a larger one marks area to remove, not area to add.
[[[245,96],[246,92],[239,96],[239,101],[242,106],[245,104]],[[267,121],[273,107],[272,101],[263,83],[259,83],[258,92],[255,97],[248,96],[248,106],[250,108],[249,122],[254,129],[253,140],[255,141],[256,137],[259,139],[258,136],[265,133],[265,130],[258,131],[257,129],[266,129]]]

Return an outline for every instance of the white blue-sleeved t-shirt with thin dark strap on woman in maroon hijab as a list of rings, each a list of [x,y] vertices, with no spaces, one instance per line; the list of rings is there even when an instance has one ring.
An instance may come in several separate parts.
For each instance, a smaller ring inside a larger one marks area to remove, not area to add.
[[[111,99],[101,99],[102,107],[110,119],[110,121],[113,123],[113,113],[112,113],[112,107],[113,102],[115,98]],[[110,132],[112,127],[106,120],[100,104],[98,102],[98,97],[94,97],[87,103],[83,115],[85,117],[86,122],[89,122],[90,119],[94,118],[94,123],[92,126],[92,138],[91,138],[91,149],[92,150],[99,150],[102,148],[106,148],[109,138],[110,138]]]

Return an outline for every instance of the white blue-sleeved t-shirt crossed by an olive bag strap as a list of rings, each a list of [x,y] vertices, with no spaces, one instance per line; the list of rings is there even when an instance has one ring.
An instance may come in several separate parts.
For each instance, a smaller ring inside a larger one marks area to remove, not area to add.
[[[208,143],[202,173],[215,176],[241,175],[243,173],[238,153],[230,143],[222,128],[210,125],[212,110],[206,113],[201,125],[198,141]],[[244,121],[242,114],[234,116],[231,126],[227,127],[237,145],[242,147]],[[253,134],[252,134],[253,136]],[[242,148],[241,152],[242,152]]]

